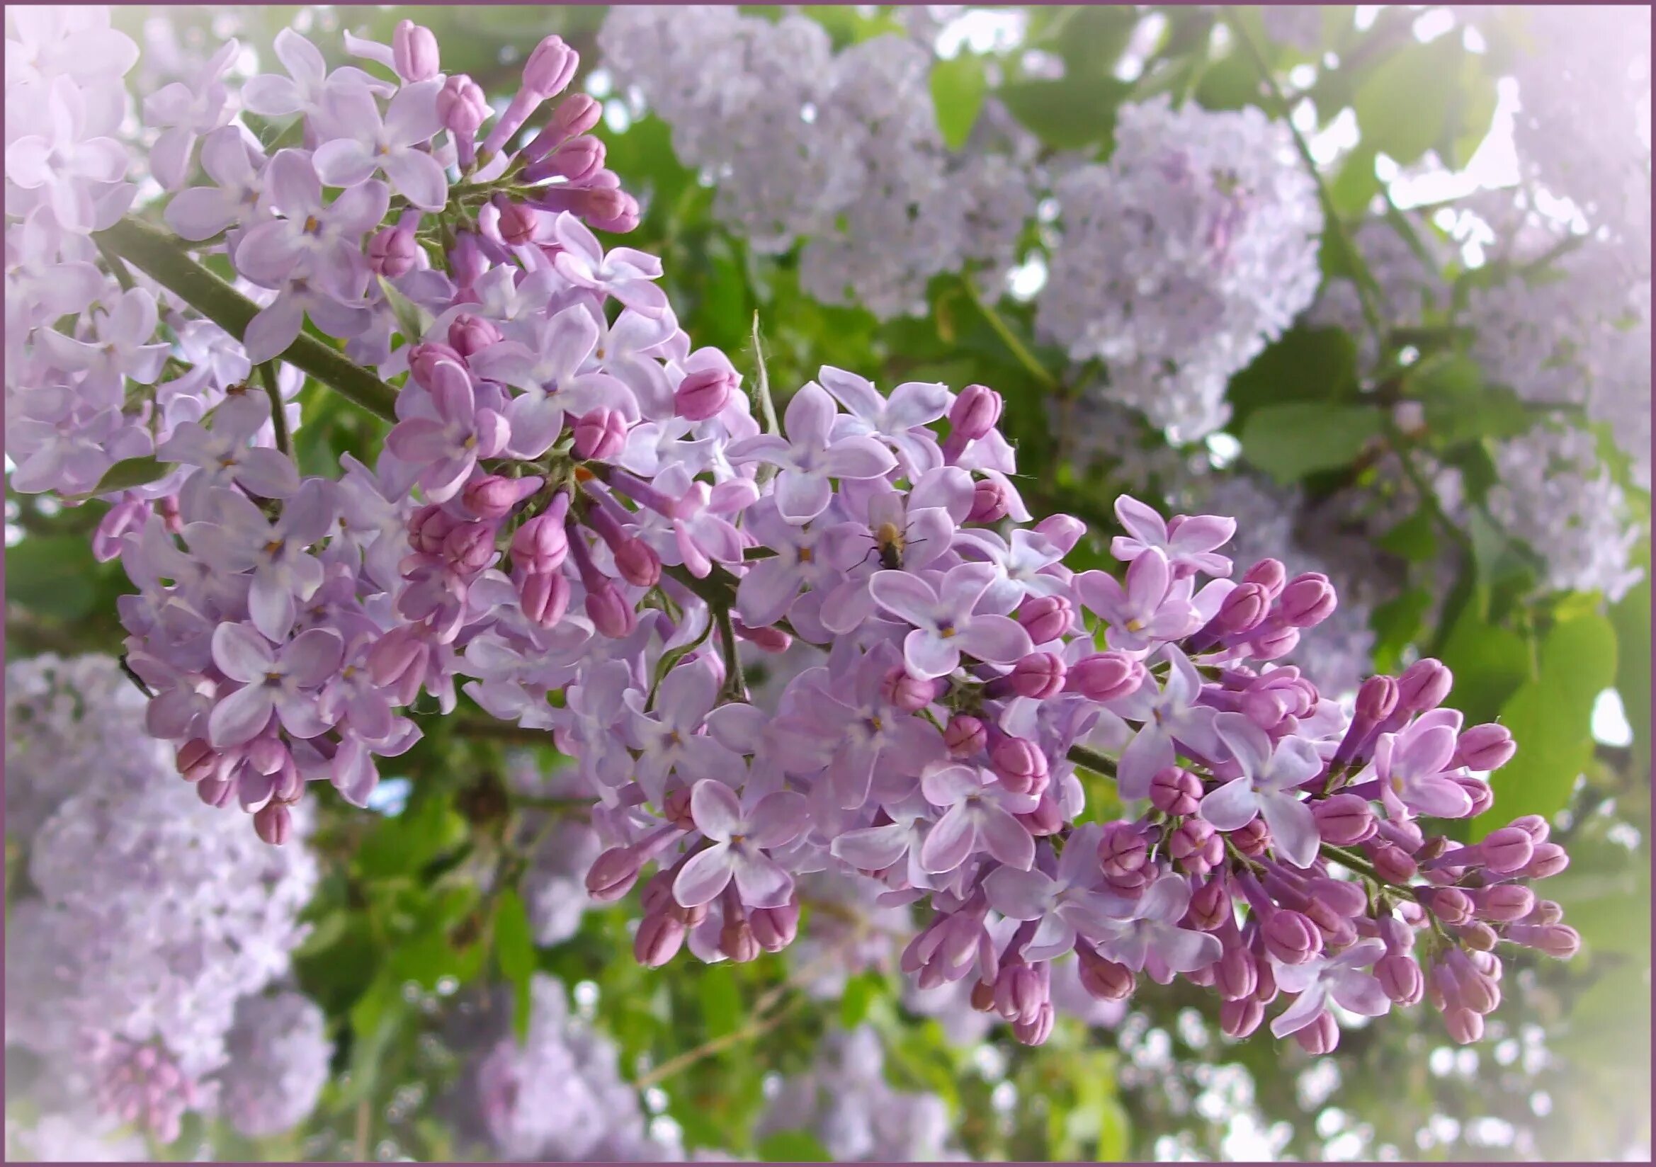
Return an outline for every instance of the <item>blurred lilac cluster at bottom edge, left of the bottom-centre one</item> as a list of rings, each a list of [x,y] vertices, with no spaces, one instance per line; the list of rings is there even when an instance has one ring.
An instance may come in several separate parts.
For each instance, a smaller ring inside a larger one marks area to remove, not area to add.
[[[445,1102],[464,1141],[512,1162],[682,1159],[647,1132],[616,1046],[575,1016],[563,983],[537,973],[528,1035],[512,1035],[510,990],[460,1010],[457,1045],[475,1051]]]

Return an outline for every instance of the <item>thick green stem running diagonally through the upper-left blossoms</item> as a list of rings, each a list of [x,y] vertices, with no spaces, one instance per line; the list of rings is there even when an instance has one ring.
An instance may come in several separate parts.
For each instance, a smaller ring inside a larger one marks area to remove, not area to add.
[[[258,315],[258,305],[192,260],[166,232],[128,217],[93,238],[161,286],[182,296],[230,336],[245,339],[247,326]],[[315,336],[300,333],[278,356],[371,414],[396,420],[397,391]]]

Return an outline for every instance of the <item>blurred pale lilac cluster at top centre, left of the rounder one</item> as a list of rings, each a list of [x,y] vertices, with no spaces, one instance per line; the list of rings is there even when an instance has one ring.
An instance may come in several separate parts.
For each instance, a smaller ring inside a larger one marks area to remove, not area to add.
[[[949,151],[932,53],[883,35],[838,53],[802,15],[616,7],[606,66],[672,126],[679,157],[717,182],[715,214],[760,250],[805,240],[800,280],[878,316],[926,310],[926,281],[1012,265],[1035,214],[1033,141],[995,103]]]

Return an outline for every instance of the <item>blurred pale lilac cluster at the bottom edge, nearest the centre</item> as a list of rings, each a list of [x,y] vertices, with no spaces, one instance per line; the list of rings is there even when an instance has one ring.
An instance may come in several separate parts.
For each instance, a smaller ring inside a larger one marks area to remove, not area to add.
[[[825,1038],[816,1064],[778,1086],[755,1137],[806,1131],[838,1164],[967,1162],[951,1137],[949,1104],[937,1094],[893,1089],[884,1061],[868,1026]]]

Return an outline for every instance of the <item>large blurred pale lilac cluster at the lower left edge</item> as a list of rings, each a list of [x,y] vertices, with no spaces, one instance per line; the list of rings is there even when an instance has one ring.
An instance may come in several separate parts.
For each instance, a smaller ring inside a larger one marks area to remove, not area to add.
[[[31,894],[7,920],[7,1043],[45,1059],[48,1093],[167,1142],[184,1111],[214,1106],[210,1076],[232,1046],[272,1056],[232,1025],[303,939],[316,864],[298,839],[268,848],[202,806],[123,689],[137,697],[106,657],[7,669],[8,790],[58,793],[38,828],[13,834]],[[270,1104],[285,1089],[252,1081],[242,1097]],[[315,1091],[301,1101],[280,1114],[298,1121]]]

